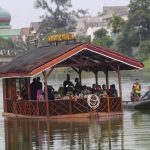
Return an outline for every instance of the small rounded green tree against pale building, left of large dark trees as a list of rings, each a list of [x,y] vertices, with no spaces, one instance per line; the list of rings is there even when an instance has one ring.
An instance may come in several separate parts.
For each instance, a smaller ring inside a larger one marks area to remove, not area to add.
[[[109,21],[108,26],[112,28],[114,33],[120,32],[125,25],[125,21],[120,16],[113,16]]]

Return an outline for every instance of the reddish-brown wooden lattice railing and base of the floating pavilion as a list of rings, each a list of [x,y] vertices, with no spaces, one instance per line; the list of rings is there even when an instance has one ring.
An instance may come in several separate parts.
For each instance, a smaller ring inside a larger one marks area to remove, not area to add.
[[[4,115],[28,116],[28,117],[48,117],[59,118],[78,116],[89,117],[93,112],[86,99],[74,100],[49,100],[48,112],[46,111],[46,101],[35,100],[6,100],[6,110]],[[121,113],[121,98],[103,98],[100,100],[100,105],[95,111],[96,113]]]

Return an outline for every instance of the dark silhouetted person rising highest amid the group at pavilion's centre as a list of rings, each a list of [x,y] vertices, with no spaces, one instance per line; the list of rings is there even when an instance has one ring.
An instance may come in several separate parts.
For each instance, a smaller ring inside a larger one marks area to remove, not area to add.
[[[71,88],[74,88],[73,83],[70,81],[70,75],[67,74],[67,79],[63,82],[63,88],[64,88],[64,95],[70,90]]]

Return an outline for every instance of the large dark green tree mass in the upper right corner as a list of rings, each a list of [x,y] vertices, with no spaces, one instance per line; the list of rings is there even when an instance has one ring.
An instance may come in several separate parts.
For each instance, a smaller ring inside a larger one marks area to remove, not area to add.
[[[118,38],[117,49],[132,54],[132,47],[138,47],[144,40],[150,39],[150,1],[131,0],[128,22]]]

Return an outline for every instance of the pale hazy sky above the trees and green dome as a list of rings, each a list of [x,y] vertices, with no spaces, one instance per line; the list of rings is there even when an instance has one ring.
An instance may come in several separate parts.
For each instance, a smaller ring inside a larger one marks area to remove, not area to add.
[[[130,0],[72,0],[73,9],[88,9],[94,16],[102,12],[103,6],[124,6]],[[0,0],[0,7],[11,14],[11,26],[13,29],[29,27],[31,22],[40,21],[43,10],[34,8],[35,0]]]

